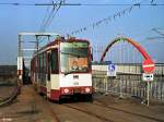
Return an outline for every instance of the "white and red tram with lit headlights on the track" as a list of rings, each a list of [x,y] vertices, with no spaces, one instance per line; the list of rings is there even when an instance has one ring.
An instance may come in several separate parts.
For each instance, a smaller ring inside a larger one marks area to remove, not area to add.
[[[91,62],[87,40],[57,38],[34,54],[31,78],[37,91],[51,100],[77,94],[92,99]]]

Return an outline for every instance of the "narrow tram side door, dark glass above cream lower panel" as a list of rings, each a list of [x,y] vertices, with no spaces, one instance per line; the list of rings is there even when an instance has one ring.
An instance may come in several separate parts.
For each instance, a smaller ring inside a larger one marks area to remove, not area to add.
[[[47,53],[47,97],[50,97],[51,52]]]

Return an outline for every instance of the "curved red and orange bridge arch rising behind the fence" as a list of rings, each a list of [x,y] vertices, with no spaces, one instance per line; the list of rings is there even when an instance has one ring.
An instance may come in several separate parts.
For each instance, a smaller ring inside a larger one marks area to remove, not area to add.
[[[119,42],[119,41],[127,41],[127,42],[129,42],[130,45],[132,45],[142,54],[142,57],[144,58],[144,61],[145,60],[150,60],[151,62],[153,62],[151,57],[147,53],[147,51],[137,41],[134,41],[131,38],[127,38],[127,37],[115,38],[109,45],[107,45],[107,47],[105,48],[105,50],[104,50],[104,52],[103,52],[103,54],[101,57],[101,62],[104,61],[104,58],[105,58],[107,51],[113,47],[113,45],[116,44],[116,42]]]

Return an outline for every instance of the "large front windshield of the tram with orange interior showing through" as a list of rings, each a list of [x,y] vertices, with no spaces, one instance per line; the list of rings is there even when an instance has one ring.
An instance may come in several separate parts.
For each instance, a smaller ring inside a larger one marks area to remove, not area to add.
[[[62,42],[60,44],[61,72],[89,72],[89,44]]]

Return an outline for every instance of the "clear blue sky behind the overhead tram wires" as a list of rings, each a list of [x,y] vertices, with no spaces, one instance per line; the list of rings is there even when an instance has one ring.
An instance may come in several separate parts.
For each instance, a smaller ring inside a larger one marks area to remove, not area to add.
[[[136,3],[140,0],[66,0],[71,3]],[[145,0],[144,3],[150,3]],[[1,0],[0,2],[13,2]],[[15,0],[14,2],[42,3],[49,0]],[[164,3],[164,0],[154,0]],[[110,16],[128,7],[62,7],[55,16],[47,32],[66,35],[72,30],[85,27],[102,19]],[[16,64],[17,33],[38,32],[47,7],[13,7],[0,5],[0,64]],[[74,35],[91,40],[92,45],[105,46],[118,35],[133,38],[145,48],[156,61],[164,62],[164,40],[148,40],[148,37],[159,36],[151,30],[154,27],[164,28],[164,7],[141,7],[130,13],[117,17],[108,24],[102,24],[94,29]],[[164,29],[161,29],[164,33]]]

